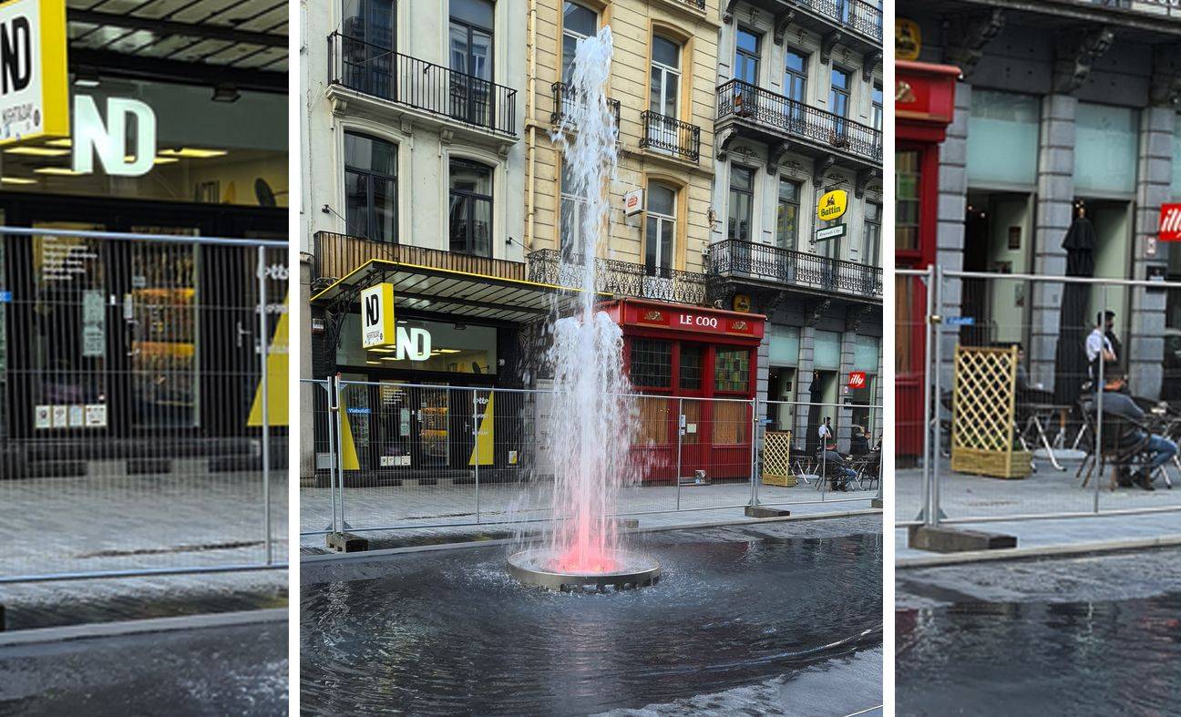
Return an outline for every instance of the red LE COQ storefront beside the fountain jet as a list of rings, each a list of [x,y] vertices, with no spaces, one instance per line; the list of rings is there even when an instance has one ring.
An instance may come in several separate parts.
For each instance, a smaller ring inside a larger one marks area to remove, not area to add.
[[[638,299],[603,309],[624,330],[625,370],[646,396],[632,449],[646,467],[644,480],[673,481],[678,464],[680,477],[704,471],[712,481],[749,480],[750,402],[766,318]],[[665,395],[683,398],[659,398]]]

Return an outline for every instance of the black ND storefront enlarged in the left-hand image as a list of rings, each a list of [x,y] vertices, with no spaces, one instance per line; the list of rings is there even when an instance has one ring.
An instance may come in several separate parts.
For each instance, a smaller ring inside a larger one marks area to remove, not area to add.
[[[260,344],[287,283],[285,250],[267,249],[260,339],[259,247],[197,240],[286,240],[286,72],[243,70],[230,85],[237,60],[98,48],[118,27],[102,15],[112,25],[78,33],[70,11],[43,12],[35,37],[63,38],[34,47],[43,94],[0,98],[6,117],[31,119],[0,136],[0,437],[79,471],[157,455],[161,437],[198,454],[213,450],[204,438],[256,435]]]

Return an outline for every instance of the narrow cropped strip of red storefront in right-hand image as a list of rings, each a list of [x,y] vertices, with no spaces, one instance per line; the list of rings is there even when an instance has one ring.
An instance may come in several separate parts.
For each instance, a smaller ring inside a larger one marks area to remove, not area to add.
[[[939,145],[952,122],[958,67],[898,60],[895,87],[895,265],[935,263],[939,229]],[[914,276],[895,280],[895,400],[898,455],[922,451],[922,393],[927,380],[927,295]]]

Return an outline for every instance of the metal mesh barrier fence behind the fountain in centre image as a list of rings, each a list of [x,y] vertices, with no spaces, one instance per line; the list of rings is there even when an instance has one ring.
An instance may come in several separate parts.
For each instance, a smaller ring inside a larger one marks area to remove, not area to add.
[[[301,535],[560,519],[549,508],[550,447],[562,430],[553,397],[548,390],[304,380],[302,430],[313,439],[302,442]],[[633,398],[632,441],[621,450],[635,480],[620,490],[619,515],[880,497],[879,405]],[[816,450],[824,416],[840,451]],[[861,437],[854,421],[874,437]],[[775,467],[787,467],[774,477],[764,467],[768,445],[777,451]],[[833,495],[834,488],[846,490]]]

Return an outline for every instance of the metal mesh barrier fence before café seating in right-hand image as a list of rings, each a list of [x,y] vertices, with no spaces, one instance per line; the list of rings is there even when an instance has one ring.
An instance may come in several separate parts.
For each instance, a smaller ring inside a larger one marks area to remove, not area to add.
[[[896,282],[898,526],[1181,511],[1181,282]]]

